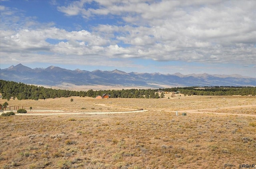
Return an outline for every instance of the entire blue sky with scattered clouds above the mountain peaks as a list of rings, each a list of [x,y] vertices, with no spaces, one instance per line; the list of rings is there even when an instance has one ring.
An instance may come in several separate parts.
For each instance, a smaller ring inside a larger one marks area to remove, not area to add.
[[[0,68],[256,78],[256,1],[0,0]]]

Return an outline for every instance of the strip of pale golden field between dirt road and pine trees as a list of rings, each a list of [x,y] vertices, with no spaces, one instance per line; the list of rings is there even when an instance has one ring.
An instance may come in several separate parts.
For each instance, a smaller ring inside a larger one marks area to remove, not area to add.
[[[170,99],[168,99],[168,97]],[[70,102],[71,98],[73,98],[73,102]],[[136,110],[138,108],[159,111],[182,111],[212,108],[212,112],[222,112],[223,110],[228,113],[236,113],[233,111],[234,108],[229,109],[227,107],[245,105],[248,106],[248,111],[243,110],[243,112],[238,112],[255,114],[255,111],[253,111],[253,109],[251,110],[251,108],[254,108],[256,105],[256,96],[184,96],[182,94],[176,94],[175,97],[171,97],[171,94],[165,94],[165,98],[159,99],[95,99],[90,97],[49,98],[46,100],[10,99],[9,101],[0,99],[0,104],[4,102],[8,102],[9,106],[12,107],[19,106],[19,108],[22,108],[23,106],[26,110],[29,110],[31,106],[32,110],[63,110],[67,112],[122,112]],[[218,109],[216,109],[216,107],[218,107]]]

